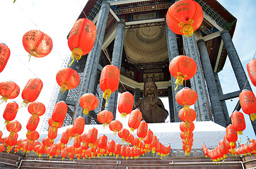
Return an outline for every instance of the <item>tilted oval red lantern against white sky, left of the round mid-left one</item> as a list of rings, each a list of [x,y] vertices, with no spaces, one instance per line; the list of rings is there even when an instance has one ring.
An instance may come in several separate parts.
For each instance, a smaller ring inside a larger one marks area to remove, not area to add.
[[[21,97],[25,106],[28,106],[29,102],[33,102],[37,99],[42,90],[42,81],[38,78],[32,78],[28,80],[22,91]]]

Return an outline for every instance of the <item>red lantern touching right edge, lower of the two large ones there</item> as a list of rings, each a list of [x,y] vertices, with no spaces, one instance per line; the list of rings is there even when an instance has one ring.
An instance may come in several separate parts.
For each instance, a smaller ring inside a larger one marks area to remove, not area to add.
[[[256,99],[255,94],[250,90],[243,90],[239,94],[240,106],[244,113],[250,115],[250,120],[254,121],[256,118]]]

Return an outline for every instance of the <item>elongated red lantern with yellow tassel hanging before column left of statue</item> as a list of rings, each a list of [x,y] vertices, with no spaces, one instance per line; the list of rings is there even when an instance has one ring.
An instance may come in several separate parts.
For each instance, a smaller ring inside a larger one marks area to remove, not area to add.
[[[110,94],[115,92],[119,85],[120,70],[115,65],[106,65],[100,74],[100,89],[104,92],[103,98],[110,98]]]

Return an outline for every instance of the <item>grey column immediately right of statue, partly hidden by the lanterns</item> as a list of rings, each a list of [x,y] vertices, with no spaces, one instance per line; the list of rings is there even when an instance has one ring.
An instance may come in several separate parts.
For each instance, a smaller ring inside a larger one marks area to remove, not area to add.
[[[169,62],[170,62],[173,60],[173,58],[175,58],[176,56],[179,56],[177,35],[170,30],[167,24],[165,24],[165,31],[166,31],[166,39],[167,39],[167,45],[168,45],[168,56],[169,56]],[[183,86],[179,85],[178,88],[175,90],[175,87],[176,87],[176,84],[174,84],[175,78],[172,75],[170,75],[170,80],[172,83],[172,90],[173,90],[172,91],[173,103],[170,103],[170,100],[169,100],[169,106],[170,108],[173,107],[174,122],[181,122],[178,113],[182,108],[182,106],[178,104],[177,101],[175,100],[175,95],[177,94],[178,91],[180,91],[180,89],[183,88]],[[173,106],[170,104],[173,104]],[[171,111],[170,111],[170,115],[171,115]]]

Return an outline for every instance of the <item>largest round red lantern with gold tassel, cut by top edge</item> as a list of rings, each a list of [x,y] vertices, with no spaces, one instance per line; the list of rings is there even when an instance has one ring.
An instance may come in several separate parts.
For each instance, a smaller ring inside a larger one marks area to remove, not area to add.
[[[204,11],[192,0],[175,2],[166,14],[166,23],[175,34],[191,37],[202,24]]]

